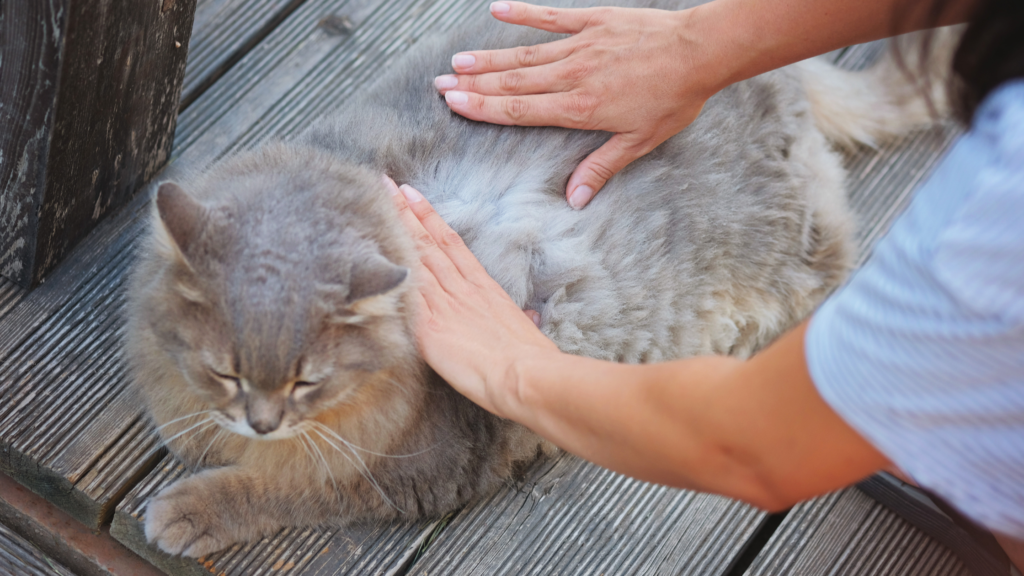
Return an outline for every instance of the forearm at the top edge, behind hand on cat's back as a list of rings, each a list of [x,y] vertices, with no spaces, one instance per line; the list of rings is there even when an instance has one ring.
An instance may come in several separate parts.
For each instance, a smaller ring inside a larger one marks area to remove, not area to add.
[[[974,0],[954,0],[934,25],[966,22]],[[921,30],[930,2],[905,0],[716,0],[681,25],[699,39],[693,66],[707,67],[717,91],[831,50]]]

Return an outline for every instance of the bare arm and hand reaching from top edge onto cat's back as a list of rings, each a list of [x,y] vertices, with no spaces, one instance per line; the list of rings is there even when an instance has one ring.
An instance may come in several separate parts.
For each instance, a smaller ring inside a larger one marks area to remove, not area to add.
[[[955,0],[940,24],[964,22]],[[437,88],[458,114],[521,126],[614,135],[572,173],[566,198],[585,206],[613,174],[692,122],[725,86],[830,50],[921,28],[929,2],[894,26],[905,0],[715,0],[682,11],[556,9],[495,2],[506,23],[569,38],[461,52]],[[582,187],[582,188],[581,188]],[[580,190],[578,190],[580,189]]]

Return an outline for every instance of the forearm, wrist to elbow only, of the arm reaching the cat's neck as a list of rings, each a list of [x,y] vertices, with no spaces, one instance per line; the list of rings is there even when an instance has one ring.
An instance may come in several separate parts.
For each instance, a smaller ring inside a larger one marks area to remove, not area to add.
[[[622,365],[569,355],[517,364],[507,415],[559,447],[630,477],[762,503],[754,466],[717,434],[712,389],[734,359]]]

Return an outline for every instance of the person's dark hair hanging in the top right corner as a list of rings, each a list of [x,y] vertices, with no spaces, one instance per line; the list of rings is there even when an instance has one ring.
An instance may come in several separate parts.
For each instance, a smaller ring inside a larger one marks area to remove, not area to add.
[[[896,27],[913,15],[924,17],[923,25],[933,28],[950,10],[951,0],[934,0],[921,13],[920,2],[898,6]],[[926,39],[922,50],[928,49]],[[922,58],[924,61],[924,58]],[[1024,78],[1024,1],[975,0],[967,30],[953,55],[953,74],[947,87],[956,117],[970,124],[978,106],[999,84]]]

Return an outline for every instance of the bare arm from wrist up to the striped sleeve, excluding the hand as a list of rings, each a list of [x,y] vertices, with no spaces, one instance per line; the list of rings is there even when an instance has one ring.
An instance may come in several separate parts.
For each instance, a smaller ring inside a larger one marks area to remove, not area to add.
[[[801,326],[750,361],[525,359],[503,411],[616,471],[782,508],[886,462],[817,395],[803,333]]]

